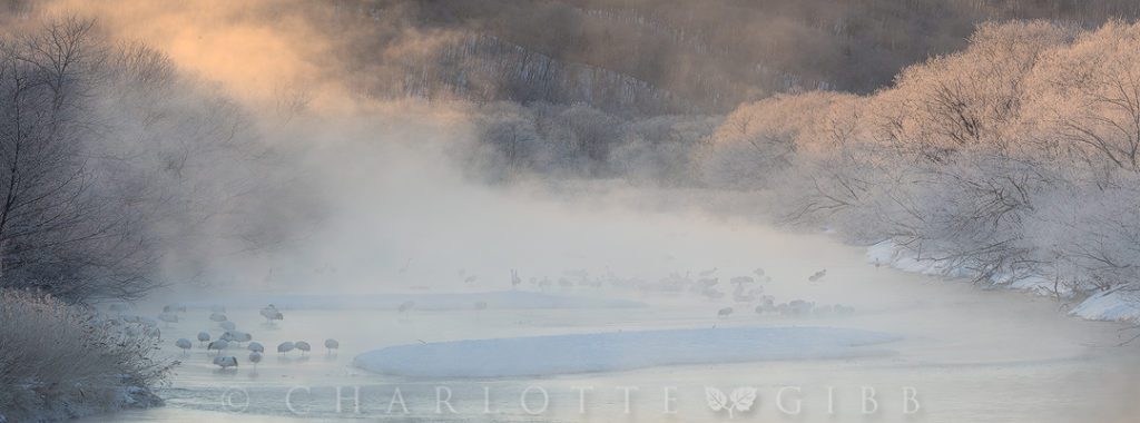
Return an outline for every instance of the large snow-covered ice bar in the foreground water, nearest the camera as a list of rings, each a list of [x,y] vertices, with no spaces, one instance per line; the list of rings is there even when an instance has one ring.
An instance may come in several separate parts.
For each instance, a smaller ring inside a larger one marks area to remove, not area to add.
[[[890,353],[881,332],[832,327],[735,327],[568,334],[388,347],[356,366],[408,377],[511,377],[667,365],[834,359]]]

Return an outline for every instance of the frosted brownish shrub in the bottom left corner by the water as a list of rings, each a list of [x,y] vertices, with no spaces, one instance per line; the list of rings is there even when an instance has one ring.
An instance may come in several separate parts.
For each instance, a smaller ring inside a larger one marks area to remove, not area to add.
[[[0,421],[55,421],[146,407],[170,363],[145,324],[49,295],[0,290]]]

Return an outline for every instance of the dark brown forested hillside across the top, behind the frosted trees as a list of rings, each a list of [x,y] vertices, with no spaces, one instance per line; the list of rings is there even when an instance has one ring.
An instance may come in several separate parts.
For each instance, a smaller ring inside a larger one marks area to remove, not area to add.
[[[959,51],[990,21],[1096,27],[1135,0],[367,0],[310,13],[356,32],[345,54],[381,96],[585,103],[624,115],[715,113],[780,92],[868,93]],[[380,57],[407,36],[430,51]],[[396,63],[392,63],[396,62]],[[370,79],[370,80],[369,80]]]

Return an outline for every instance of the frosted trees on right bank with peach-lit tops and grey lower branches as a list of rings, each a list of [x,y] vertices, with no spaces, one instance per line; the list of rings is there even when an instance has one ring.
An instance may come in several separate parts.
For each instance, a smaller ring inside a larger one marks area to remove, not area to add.
[[[742,168],[776,174],[744,185],[771,187],[780,215],[894,241],[960,276],[1035,275],[1058,293],[1137,284],[1138,29],[984,24],[873,95],[741,106],[715,139],[759,153],[697,160],[730,181],[744,173],[726,162],[764,163]]]

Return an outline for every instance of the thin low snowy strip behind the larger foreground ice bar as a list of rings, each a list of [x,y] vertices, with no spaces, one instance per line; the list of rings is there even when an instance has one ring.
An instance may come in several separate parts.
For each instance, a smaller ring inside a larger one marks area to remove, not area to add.
[[[488,309],[610,309],[640,308],[645,303],[589,296],[552,295],[526,291],[492,291],[439,294],[282,294],[237,295],[215,301],[188,302],[188,307],[223,304],[237,308],[261,308],[274,304],[284,309],[398,309],[413,303],[416,310],[471,310],[477,303]]]

